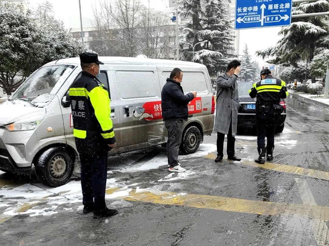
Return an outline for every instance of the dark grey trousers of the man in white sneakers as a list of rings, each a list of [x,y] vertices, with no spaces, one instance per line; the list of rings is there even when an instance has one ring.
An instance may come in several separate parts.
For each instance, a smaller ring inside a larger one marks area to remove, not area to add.
[[[178,165],[179,146],[182,142],[183,120],[164,121],[164,126],[168,130],[168,165],[175,167]]]

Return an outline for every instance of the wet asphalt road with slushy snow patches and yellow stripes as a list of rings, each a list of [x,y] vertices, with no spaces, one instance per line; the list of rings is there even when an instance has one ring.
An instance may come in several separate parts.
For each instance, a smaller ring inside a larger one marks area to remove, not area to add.
[[[0,245],[329,245],[329,108],[292,96],[287,107],[274,160],[263,167],[252,161],[250,131],[237,135],[242,162],[215,163],[212,134],[199,152],[180,156],[185,174],[157,166],[166,159],[160,147],[110,157],[107,204],[119,214],[108,219],[84,215],[70,198],[56,204],[67,191],[8,197],[26,185],[45,188],[35,177],[0,174]],[[18,212],[32,211],[24,206],[55,213]]]

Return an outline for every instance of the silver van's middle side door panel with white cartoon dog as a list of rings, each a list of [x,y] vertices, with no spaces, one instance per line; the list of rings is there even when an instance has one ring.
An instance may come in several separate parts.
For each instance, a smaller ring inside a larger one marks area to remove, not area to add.
[[[164,141],[161,90],[155,66],[113,65],[118,87],[123,151]]]

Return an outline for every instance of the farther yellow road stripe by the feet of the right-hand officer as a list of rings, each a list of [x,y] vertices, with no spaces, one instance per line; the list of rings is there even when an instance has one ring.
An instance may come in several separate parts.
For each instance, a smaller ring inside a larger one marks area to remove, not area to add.
[[[206,156],[208,159],[216,159],[216,154],[210,153]],[[314,169],[307,169],[302,167],[290,166],[290,165],[283,165],[283,164],[274,164],[266,162],[265,164],[258,164],[254,161],[250,160],[242,160],[240,162],[242,165],[251,166],[251,167],[258,167],[263,169],[270,169],[278,172],[290,173],[290,174],[297,174],[303,175],[312,178],[320,178],[324,180],[329,180],[329,172],[318,171]]]

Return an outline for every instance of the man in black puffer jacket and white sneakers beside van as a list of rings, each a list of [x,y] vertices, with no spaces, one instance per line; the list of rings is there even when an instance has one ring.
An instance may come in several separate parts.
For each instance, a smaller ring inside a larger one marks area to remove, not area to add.
[[[178,163],[179,146],[182,141],[183,120],[188,119],[188,103],[196,97],[197,92],[184,94],[181,82],[183,72],[175,68],[162,88],[161,106],[164,125],[168,130],[167,157],[169,172],[182,173],[186,169]]]

